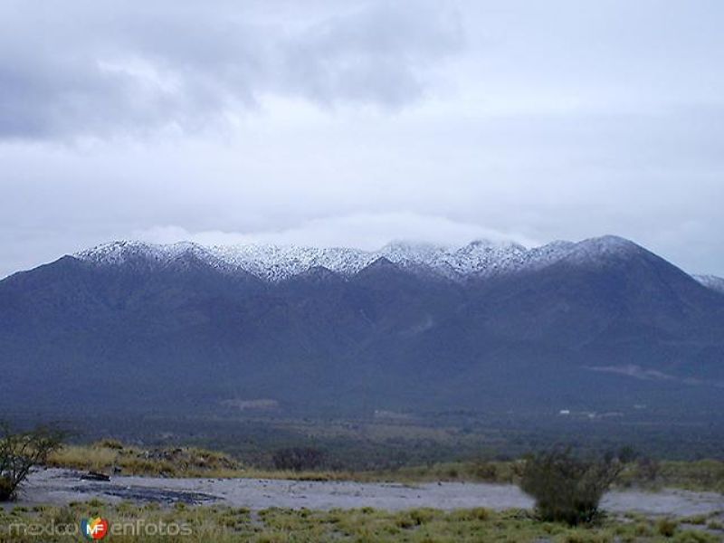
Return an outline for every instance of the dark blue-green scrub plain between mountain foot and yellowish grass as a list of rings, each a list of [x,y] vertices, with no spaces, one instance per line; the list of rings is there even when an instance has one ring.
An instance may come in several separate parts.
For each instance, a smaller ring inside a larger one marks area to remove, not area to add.
[[[634,416],[635,415],[635,416]],[[32,424],[33,419],[26,421]],[[439,462],[505,461],[531,451],[570,443],[595,454],[629,444],[635,456],[659,460],[724,461],[722,424],[687,424],[675,418],[636,411],[626,417],[595,419],[539,414],[529,420],[506,414],[449,412],[410,414],[407,418],[271,416],[252,412],[220,417],[139,414],[75,420],[86,443],[112,435],[144,448],[195,446],[223,451],[258,468],[274,469],[273,452],[315,447],[325,452],[324,468],[334,471],[394,471]]]

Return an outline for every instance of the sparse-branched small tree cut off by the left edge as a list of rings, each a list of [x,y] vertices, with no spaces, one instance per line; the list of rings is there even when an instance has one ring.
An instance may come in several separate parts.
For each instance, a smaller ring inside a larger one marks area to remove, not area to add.
[[[31,468],[60,449],[64,437],[62,431],[44,426],[14,433],[8,424],[0,424],[0,501],[13,500]]]

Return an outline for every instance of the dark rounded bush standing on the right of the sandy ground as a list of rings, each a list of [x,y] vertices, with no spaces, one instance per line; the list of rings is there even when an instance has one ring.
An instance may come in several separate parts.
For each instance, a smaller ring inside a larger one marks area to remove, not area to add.
[[[520,488],[536,499],[541,519],[588,523],[598,516],[598,504],[621,470],[615,457],[584,460],[570,448],[557,449],[526,460]]]

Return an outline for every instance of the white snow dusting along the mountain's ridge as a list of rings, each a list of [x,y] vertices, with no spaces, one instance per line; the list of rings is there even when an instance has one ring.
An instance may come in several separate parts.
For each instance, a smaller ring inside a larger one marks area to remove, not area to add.
[[[74,256],[101,266],[123,264],[147,268],[166,266],[193,257],[214,268],[230,272],[247,271],[265,281],[281,281],[315,267],[353,275],[372,262],[386,258],[405,269],[460,280],[469,276],[491,276],[539,268],[567,257],[595,261],[597,257],[626,252],[632,247],[638,246],[614,236],[580,243],[554,242],[530,249],[518,243],[485,240],[477,240],[462,247],[395,242],[372,252],[294,245],[204,246],[190,242],[159,245],[120,241],[102,244]]]

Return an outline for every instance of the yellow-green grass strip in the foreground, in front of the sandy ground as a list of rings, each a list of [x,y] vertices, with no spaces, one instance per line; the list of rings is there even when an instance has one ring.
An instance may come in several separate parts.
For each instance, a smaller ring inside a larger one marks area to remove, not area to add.
[[[77,541],[78,537],[53,534],[55,529],[75,529],[80,519],[102,517],[110,527],[129,528],[126,535],[111,532],[113,541],[175,542],[318,542],[379,541],[466,542],[550,541],[551,543],[674,542],[715,543],[722,532],[705,525],[684,528],[674,519],[604,519],[595,527],[569,527],[541,522],[526,511],[496,512],[485,509],[443,511],[414,509],[384,511],[248,509],[222,506],[188,507],[177,504],[122,502],[110,505],[99,500],[67,507],[38,506],[32,510],[0,510],[0,541],[24,543],[39,540],[29,530],[46,529],[44,541]],[[185,530],[184,535],[160,535]],[[37,533],[37,531],[35,532]]]

